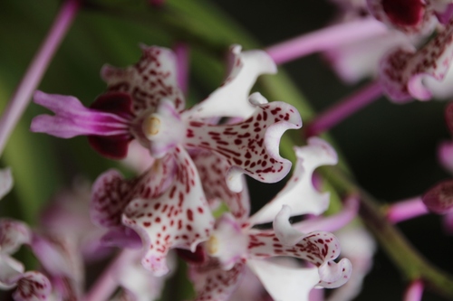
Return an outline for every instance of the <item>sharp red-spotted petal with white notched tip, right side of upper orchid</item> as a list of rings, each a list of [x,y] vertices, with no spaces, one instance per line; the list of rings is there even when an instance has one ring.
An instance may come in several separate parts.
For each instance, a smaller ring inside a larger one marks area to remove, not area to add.
[[[302,127],[301,117],[291,105],[267,103],[259,93],[253,94],[250,102],[255,106],[254,115],[235,125],[188,122],[185,145],[225,157],[232,166],[226,182],[234,192],[242,189],[240,174],[265,183],[282,180],[289,173],[291,162],[279,155],[280,138],[288,128]]]

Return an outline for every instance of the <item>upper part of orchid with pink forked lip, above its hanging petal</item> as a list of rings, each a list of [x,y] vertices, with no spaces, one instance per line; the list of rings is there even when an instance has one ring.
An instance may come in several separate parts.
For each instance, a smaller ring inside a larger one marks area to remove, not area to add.
[[[53,136],[88,135],[103,155],[122,158],[132,138],[161,158],[176,146],[205,149],[226,158],[231,165],[229,187],[242,187],[235,179],[246,173],[258,181],[281,180],[291,163],[278,154],[280,136],[302,126],[297,110],[283,102],[267,103],[248,93],[257,76],[275,73],[274,61],[262,51],[232,48],[229,76],[219,89],[193,108],[183,110],[184,99],[175,80],[175,58],[159,47],[143,49],[141,60],[126,69],[104,67],[109,91],[84,108],[78,99],[36,92],[34,101],[54,111],[38,116],[32,130]],[[212,125],[207,118],[236,117],[242,122]]]

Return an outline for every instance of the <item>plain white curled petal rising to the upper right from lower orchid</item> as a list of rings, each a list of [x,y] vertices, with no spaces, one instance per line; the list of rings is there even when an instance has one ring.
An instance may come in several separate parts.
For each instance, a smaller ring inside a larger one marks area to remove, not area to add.
[[[308,139],[308,146],[295,147],[297,163],[294,174],[274,200],[250,218],[252,224],[273,221],[282,205],[289,205],[294,215],[321,214],[329,206],[329,193],[319,193],[312,182],[313,171],[321,165],[335,165],[338,157],[321,138]]]

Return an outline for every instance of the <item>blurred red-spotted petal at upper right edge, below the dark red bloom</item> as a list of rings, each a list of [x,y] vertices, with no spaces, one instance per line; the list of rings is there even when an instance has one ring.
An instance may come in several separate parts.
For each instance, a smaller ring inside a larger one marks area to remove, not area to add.
[[[444,80],[453,56],[452,36],[453,20],[418,52],[410,45],[389,52],[380,65],[381,83],[388,97],[397,102],[429,100],[432,92],[423,79]]]

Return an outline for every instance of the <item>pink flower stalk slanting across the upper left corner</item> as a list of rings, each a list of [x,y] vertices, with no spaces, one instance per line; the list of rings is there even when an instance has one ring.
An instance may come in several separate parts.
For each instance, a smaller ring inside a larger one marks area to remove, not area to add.
[[[41,48],[34,56],[34,60],[25,72],[24,78],[16,88],[13,97],[10,99],[7,108],[0,119],[0,154],[3,153],[6,140],[11,135],[19,118],[21,118],[27,107],[34,89],[37,88],[53,58],[58,46],[63,41],[65,34],[74,20],[80,8],[79,0],[67,0],[44,40]]]

